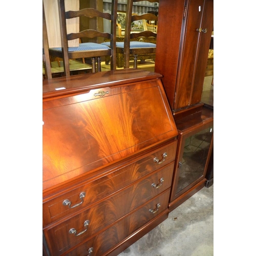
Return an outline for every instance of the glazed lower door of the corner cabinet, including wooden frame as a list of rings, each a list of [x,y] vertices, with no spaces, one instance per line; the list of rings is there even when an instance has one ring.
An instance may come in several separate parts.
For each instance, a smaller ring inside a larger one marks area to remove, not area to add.
[[[180,136],[179,158],[176,164],[171,201],[204,179],[212,148],[213,123]]]

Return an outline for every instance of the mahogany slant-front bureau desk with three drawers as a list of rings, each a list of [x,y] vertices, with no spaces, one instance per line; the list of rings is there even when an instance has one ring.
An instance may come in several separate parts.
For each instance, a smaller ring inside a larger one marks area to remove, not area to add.
[[[178,131],[160,78],[43,81],[44,255],[117,255],[168,217]]]

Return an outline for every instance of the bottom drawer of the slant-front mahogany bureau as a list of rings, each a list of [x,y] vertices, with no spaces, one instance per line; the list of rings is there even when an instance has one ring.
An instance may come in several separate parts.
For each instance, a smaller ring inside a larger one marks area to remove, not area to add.
[[[122,242],[133,232],[160,215],[168,207],[170,189],[160,194],[150,202],[142,205],[126,218],[103,230],[87,242],[66,252],[66,256],[101,256],[111,248]]]

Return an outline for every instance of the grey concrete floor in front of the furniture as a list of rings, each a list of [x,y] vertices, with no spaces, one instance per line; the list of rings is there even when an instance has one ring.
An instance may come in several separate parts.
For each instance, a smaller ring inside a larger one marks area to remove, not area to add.
[[[211,255],[214,255],[214,185],[203,187],[118,256]]]

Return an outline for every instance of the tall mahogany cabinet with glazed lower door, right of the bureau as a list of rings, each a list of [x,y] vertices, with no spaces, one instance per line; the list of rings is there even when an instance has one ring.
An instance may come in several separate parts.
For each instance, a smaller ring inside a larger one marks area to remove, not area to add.
[[[201,96],[213,29],[213,5],[213,0],[159,3],[155,71],[163,75],[164,90],[179,132],[170,211],[204,187],[206,181],[214,111],[206,108]],[[210,141],[200,140],[202,136]],[[207,147],[197,148],[194,142]],[[196,151],[189,152],[190,148]]]

